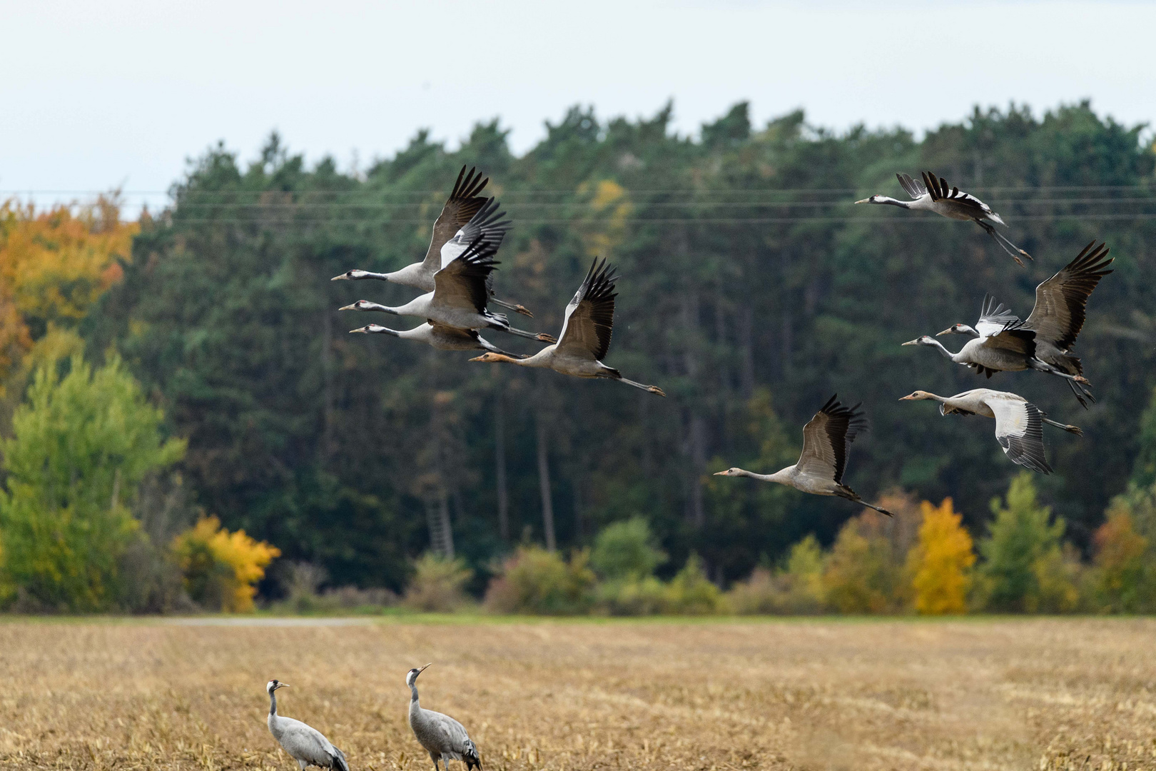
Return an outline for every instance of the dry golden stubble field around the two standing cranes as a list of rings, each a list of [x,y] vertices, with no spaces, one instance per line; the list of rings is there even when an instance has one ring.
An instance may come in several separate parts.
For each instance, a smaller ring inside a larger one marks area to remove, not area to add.
[[[258,620],[259,621],[259,620]],[[1150,620],[0,623],[0,768],[429,771],[403,677],[490,771],[1156,768]],[[1090,757],[1089,757],[1090,756]],[[455,766],[460,768],[460,766]]]

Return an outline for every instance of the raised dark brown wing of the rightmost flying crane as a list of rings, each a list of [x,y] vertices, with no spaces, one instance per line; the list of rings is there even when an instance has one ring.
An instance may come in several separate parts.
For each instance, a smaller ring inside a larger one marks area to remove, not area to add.
[[[1106,276],[1114,258],[1107,257],[1104,244],[1092,242],[1080,254],[1060,268],[1047,281],[1036,287],[1036,306],[1024,326],[1035,329],[1036,335],[1067,350],[1083,328],[1088,297],[1099,280]]]

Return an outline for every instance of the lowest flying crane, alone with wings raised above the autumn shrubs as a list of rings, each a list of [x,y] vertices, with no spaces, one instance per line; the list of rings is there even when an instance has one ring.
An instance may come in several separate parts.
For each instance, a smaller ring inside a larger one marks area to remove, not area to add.
[[[847,466],[851,443],[867,421],[859,412],[859,405],[844,407],[838,394],[815,413],[802,428],[802,454],[794,466],[773,474],[755,474],[742,468],[728,468],[714,476],[749,476],[763,482],[778,482],[812,495],[830,495],[846,498],[881,514],[894,517],[887,509],[880,509],[859,497],[859,494],[843,483],[843,470]]]

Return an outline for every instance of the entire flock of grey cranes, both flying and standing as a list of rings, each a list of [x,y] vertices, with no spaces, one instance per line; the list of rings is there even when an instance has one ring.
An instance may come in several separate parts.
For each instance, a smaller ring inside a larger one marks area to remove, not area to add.
[[[891,205],[917,212],[932,212],[953,220],[972,221],[987,232],[1016,262],[1031,255],[1015,246],[994,225],[1005,225],[1002,217],[978,198],[949,190],[942,177],[922,173],[922,181],[910,176],[896,175],[899,185],[911,200],[901,201],[884,195],[855,201],[855,203]],[[377,311],[393,316],[413,316],[422,323],[412,329],[392,329],[378,324],[351,329],[355,333],[383,334],[425,343],[437,350],[483,350],[472,362],[498,362],[518,366],[549,369],[578,378],[617,380],[647,393],[665,396],[654,385],[628,380],[617,369],[603,363],[610,349],[614,328],[615,286],[617,276],[605,259],[594,258],[578,291],[565,307],[562,332],[557,339],[542,332],[527,332],[511,326],[502,313],[494,313],[489,305],[498,305],[533,318],[520,303],[501,301],[494,294],[494,259],[511,228],[510,220],[499,210],[494,198],[480,193],[489,179],[474,169],[462,168],[433,223],[425,258],[393,273],[371,273],[351,269],[334,276],[333,281],[376,279],[423,291],[421,296],[400,306],[387,306],[360,299],[340,310]],[[1080,405],[1085,409],[1095,402],[1083,365],[1072,348],[1084,324],[1088,298],[1099,281],[1111,273],[1112,259],[1107,247],[1095,242],[1058,270],[1051,279],[1036,287],[1036,305],[1025,320],[1021,320],[992,295],[984,298],[975,326],[956,323],[938,336],[958,334],[968,338],[963,347],[950,351],[940,341],[921,335],[903,346],[935,348],[944,357],[963,364],[977,375],[991,378],[996,372],[1036,371],[1064,378]],[[513,354],[492,344],[479,333],[494,329],[548,343],[535,354]],[[927,391],[916,391],[901,401],[936,401],[941,415],[981,415],[994,418],[995,439],[1014,464],[1050,474],[1052,467],[1044,454],[1045,424],[1081,435],[1075,425],[1053,421],[1036,405],[1007,391],[973,388],[954,396],[940,396]],[[802,452],[798,462],[772,474],[757,474],[742,468],[728,468],[717,476],[747,476],[763,482],[776,482],[802,492],[835,496],[854,504],[874,509],[891,517],[882,506],[868,503],[843,482],[851,443],[867,428],[861,405],[846,407],[837,395],[827,402],[803,427]],[[429,753],[435,771],[438,763],[449,771],[450,761],[465,763],[466,771],[481,769],[481,755],[466,728],[453,718],[425,710],[417,697],[417,677],[430,665],[410,669],[406,685],[410,691],[409,727],[418,743]],[[309,765],[348,771],[344,754],[320,732],[310,726],[277,714],[276,691],[288,683],[272,680],[266,685],[269,696],[268,727],[274,739],[304,770]]]

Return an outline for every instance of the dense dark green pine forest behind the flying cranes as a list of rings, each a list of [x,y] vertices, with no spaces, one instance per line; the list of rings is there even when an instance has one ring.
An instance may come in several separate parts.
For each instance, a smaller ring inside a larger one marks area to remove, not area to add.
[[[922,140],[833,133],[802,112],[755,126],[747,104],[694,138],[670,117],[573,108],[520,157],[496,120],[452,151],[423,131],[364,171],[307,162],[276,135],[252,160],[215,147],[175,184],[170,208],[142,218],[123,280],[81,323],[88,356],[117,350],[187,439],[178,468],[191,505],[288,561],[324,565],[333,585],[399,590],[431,539],[452,539],[481,590],[513,546],[547,542],[547,521],[569,551],[633,516],[670,556],[660,572],[694,551],[717,583],[743,578],[808,533],[830,543],[859,510],[710,474],[794,462],[802,424],[835,392],[870,418],[853,488],[953,496],[977,533],[1021,469],[984,418],[898,398],[990,386],[1080,424],[1082,438],[1046,436],[1055,474],[1037,483],[1067,538],[1090,549],[1136,470],[1156,386],[1150,133],[1088,104],[977,110]],[[592,258],[607,257],[621,280],[606,361],[667,399],[348,334],[416,326],[336,311],[414,290],[329,279],[421,259],[462,165],[490,177],[514,221],[497,295],[534,312],[514,325],[557,334]],[[921,170],[990,202],[1035,261],[1017,266],[970,223],[852,206],[902,197],[895,172]],[[1025,317],[1035,286],[1091,240],[1116,261],[1076,347],[1098,399],[1089,410],[1058,378],[987,380],[901,347],[975,323],[985,292]]]

